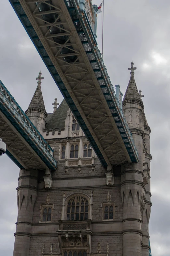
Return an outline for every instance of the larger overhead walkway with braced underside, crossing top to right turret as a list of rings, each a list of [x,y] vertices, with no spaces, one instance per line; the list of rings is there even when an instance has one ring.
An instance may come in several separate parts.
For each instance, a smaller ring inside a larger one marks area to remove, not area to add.
[[[103,166],[138,162],[86,12],[76,0],[9,0]]]

